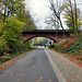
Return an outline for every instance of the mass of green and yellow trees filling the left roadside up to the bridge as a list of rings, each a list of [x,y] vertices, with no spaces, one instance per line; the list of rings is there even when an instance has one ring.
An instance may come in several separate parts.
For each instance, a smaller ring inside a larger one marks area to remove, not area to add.
[[[20,50],[22,30],[36,30],[33,19],[25,11],[24,0],[0,0],[0,54]],[[3,25],[2,25],[3,24]],[[32,40],[27,42],[31,46]],[[7,50],[8,49],[8,50]]]

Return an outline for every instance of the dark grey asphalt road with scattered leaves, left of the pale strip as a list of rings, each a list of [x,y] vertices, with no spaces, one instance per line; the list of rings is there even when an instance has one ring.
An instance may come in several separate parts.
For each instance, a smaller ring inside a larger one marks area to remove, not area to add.
[[[59,82],[44,48],[35,49],[0,73],[0,82]]]

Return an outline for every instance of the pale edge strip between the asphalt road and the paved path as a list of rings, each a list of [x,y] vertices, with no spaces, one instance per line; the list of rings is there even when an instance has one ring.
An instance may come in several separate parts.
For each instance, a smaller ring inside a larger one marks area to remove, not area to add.
[[[51,57],[49,56],[49,54],[47,52],[47,50],[45,49],[45,52],[50,61],[50,65],[59,80],[59,82],[67,82],[66,79],[63,78],[63,75],[61,74],[61,72],[59,71],[59,69],[57,68],[57,66],[55,65],[55,62],[52,61]]]

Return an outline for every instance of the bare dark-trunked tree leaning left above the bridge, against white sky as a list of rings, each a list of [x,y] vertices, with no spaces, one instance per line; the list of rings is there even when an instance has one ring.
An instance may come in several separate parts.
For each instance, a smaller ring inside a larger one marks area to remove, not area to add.
[[[63,28],[61,16],[60,16],[60,14],[61,14],[61,2],[60,2],[60,0],[56,0],[56,2],[54,0],[49,0],[49,3],[50,3],[49,8],[52,11],[52,14],[56,16],[56,20],[59,22],[59,24],[63,31],[63,36],[66,37],[65,28]]]

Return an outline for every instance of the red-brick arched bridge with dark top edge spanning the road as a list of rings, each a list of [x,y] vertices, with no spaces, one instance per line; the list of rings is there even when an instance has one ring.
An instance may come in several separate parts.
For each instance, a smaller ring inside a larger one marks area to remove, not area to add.
[[[73,33],[73,31],[65,31],[66,37],[71,38],[70,33]],[[25,30],[23,31],[22,36],[24,40],[28,40],[33,37],[48,37],[55,42],[60,42],[61,39],[65,39],[62,30]]]

